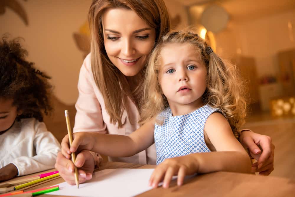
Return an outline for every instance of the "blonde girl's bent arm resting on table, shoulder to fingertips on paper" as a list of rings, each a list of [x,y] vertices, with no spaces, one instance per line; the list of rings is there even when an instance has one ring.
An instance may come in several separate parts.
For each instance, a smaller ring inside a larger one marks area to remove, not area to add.
[[[178,175],[177,185],[182,185],[185,175],[194,173],[251,172],[251,160],[234,137],[229,123],[222,114],[211,114],[205,123],[204,132],[216,152],[193,153],[165,159],[154,170],[149,185],[156,188],[163,180],[163,187],[168,188],[173,175]]]

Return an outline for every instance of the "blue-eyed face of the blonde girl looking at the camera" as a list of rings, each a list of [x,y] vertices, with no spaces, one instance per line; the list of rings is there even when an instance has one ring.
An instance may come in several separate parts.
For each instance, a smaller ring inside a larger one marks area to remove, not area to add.
[[[183,106],[187,110],[201,107],[207,70],[195,48],[188,43],[167,44],[160,58],[159,83],[172,112],[181,113],[179,107]]]

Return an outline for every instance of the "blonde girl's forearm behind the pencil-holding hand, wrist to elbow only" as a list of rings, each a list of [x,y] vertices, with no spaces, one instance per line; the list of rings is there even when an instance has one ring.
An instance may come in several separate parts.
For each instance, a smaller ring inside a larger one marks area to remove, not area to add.
[[[110,157],[130,157],[137,153],[136,143],[124,135],[93,133],[95,139],[91,151]]]

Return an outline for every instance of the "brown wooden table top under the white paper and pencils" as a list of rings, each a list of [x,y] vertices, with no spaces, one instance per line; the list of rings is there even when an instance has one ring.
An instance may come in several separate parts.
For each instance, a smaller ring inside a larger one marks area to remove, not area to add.
[[[105,162],[102,163],[99,170],[113,168],[154,168],[154,165],[141,165],[121,162]],[[47,170],[45,172],[51,172]],[[36,175],[40,174],[36,173]],[[32,175],[27,175],[32,176]],[[17,177],[13,180],[22,179]],[[59,177],[49,180],[46,183],[40,183],[25,191],[44,188],[51,185],[57,185],[64,182]],[[41,195],[47,197],[55,197],[55,195]],[[138,197],[146,196],[295,196],[295,179],[286,179],[272,176],[258,176],[232,172],[214,172],[210,174],[197,175],[193,178],[185,180],[185,184],[178,187],[176,181],[168,189],[159,187],[138,195]]]

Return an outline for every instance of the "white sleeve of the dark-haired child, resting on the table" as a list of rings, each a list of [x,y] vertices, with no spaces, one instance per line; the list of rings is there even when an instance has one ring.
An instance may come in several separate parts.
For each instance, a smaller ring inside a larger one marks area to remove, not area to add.
[[[54,168],[61,146],[53,134],[47,131],[43,122],[36,121],[33,146],[32,150],[35,151],[33,153],[35,156],[18,157],[12,162],[18,169],[18,176]]]

